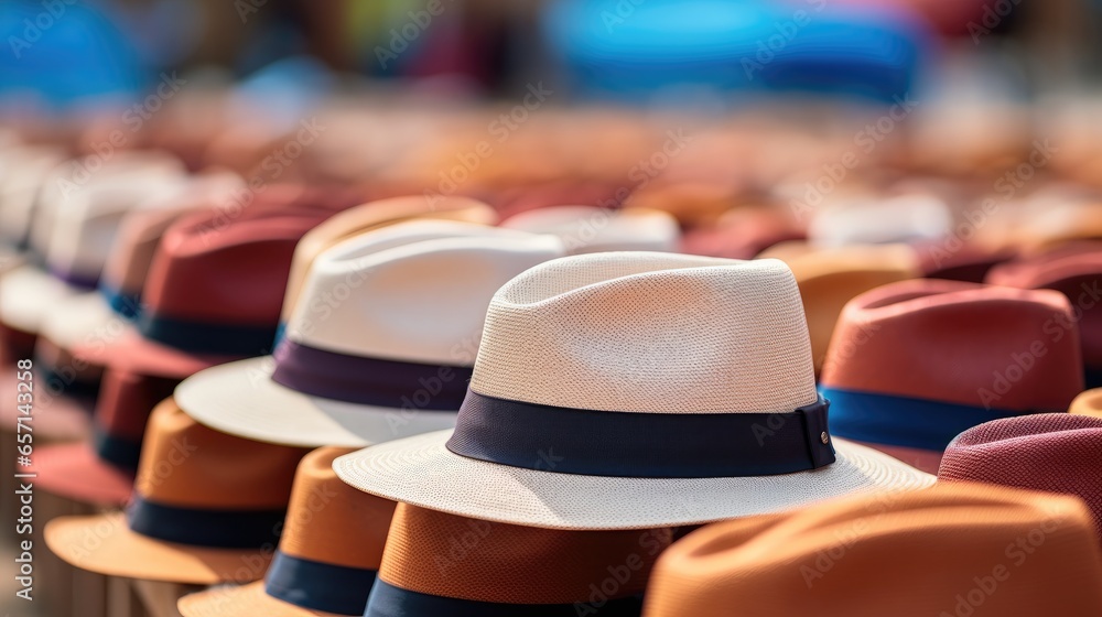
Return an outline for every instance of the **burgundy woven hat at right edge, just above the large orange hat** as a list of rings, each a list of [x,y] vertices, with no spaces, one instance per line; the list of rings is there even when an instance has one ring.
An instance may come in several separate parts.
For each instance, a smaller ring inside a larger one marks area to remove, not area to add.
[[[957,436],[938,481],[982,481],[1067,492],[1094,515],[1102,542],[1102,419],[1069,413],[1005,418]]]

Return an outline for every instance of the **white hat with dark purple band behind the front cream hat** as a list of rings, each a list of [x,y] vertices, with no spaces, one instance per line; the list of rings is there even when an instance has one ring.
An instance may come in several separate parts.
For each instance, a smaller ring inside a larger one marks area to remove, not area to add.
[[[563,255],[553,236],[414,220],[314,260],[272,356],[199,371],[181,409],[277,444],[361,446],[455,425],[490,297]]]

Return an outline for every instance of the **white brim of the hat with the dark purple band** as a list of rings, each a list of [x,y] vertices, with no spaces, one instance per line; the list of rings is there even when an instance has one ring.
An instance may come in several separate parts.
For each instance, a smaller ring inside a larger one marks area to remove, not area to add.
[[[298,447],[361,447],[455,426],[455,411],[410,412],[311,397],[271,379],[270,356],[208,368],[176,387],[180,409],[207,426]]]

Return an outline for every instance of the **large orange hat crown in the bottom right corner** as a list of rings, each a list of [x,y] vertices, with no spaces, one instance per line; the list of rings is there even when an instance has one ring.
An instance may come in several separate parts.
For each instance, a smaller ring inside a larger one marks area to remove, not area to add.
[[[1079,499],[937,486],[705,527],[659,560],[644,615],[1096,617],[1099,581]]]

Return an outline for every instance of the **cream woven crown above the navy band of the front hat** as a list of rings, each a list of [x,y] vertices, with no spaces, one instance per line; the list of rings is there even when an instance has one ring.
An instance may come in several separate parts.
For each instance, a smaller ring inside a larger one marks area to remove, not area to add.
[[[501,288],[471,387],[640,413],[787,412],[817,397],[782,262],[645,252],[559,259]]]

